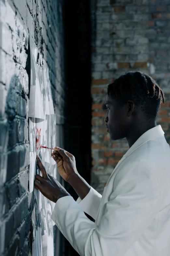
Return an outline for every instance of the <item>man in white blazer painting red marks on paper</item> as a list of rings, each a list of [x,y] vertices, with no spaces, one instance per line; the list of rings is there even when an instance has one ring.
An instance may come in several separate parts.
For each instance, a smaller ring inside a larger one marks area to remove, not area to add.
[[[112,140],[126,138],[129,150],[102,196],[80,177],[72,154],[56,147],[51,155],[77,202],[37,158],[35,187],[56,202],[51,218],[81,256],[170,255],[170,147],[156,125],[161,96],[164,103],[159,85],[139,71],[108,85],[107,131]]]

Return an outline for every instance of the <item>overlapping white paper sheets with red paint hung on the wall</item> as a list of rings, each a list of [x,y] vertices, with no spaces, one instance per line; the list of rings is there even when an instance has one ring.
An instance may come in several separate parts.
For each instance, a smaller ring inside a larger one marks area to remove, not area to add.
[[[50,216],[55,203],[48,200],[39,190],[35,189],[34,180],[35,174],[41,175],[36,165],[36,155],[39,155],[48,173],[56,178],[57,167],[54,159],[51,157],[52,150],[40,147],[40,145],[49,145],[53,148],[56,146],[56,115],[54,114],[48,65],[43,60],[42,70],[36,64],[37,48],[31,36],[30,50],[32,56],[30,102],[32,106],[29,108],[29,191],[32,193],[32,255],[53,256],[53,225],[55,223],[51,220]]]

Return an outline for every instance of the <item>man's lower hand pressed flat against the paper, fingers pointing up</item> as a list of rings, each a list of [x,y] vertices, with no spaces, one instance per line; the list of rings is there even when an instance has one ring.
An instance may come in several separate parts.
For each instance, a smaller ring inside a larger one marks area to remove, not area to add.
[[[36,156],[37,165],[41,171],[42,177],[38,174],[35,175],[34,185],[36,189],[52,202],[56,203],[57,200],[63,196],[70,196],[65,188],[54,179],[50,174],[47,173],[46,168],[41,162],[39,156]]]

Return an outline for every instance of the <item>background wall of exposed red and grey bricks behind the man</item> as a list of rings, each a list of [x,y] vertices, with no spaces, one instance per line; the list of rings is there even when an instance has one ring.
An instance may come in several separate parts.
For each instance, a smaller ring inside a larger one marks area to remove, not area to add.
[[[126,139],[111,141],[105,128],[107,85],[131,70],[152,76],[163,88],[157,124],[170,143],[170,3],[161,0],[96,0],[92,18],[92,179],[102,194],[123,154]]]

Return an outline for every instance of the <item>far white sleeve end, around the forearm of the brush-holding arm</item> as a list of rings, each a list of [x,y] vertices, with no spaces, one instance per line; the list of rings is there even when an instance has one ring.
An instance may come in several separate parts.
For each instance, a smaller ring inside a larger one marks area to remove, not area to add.
[[[96,219],[101,199],[102,195],[91,187],[87,196],[85,196],[83,200],[78,197],[76,202],[85,213],[89,214],[93,219]]]

